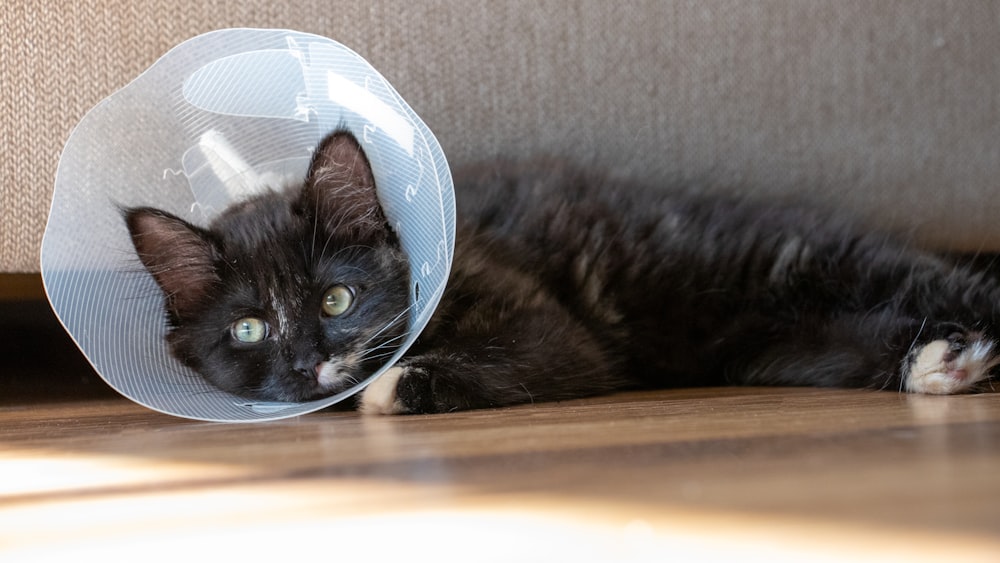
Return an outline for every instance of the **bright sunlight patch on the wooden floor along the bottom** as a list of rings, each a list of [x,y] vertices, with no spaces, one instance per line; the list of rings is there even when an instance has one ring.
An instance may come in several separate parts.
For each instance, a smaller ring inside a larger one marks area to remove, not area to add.
[[[927,535],[683,507],[359,478],[241,480],[238,467],[121,455],[0,454],[4,561],[199,553],[251,561],[987,561],[1000,546],[970,538],[961,553],[953,547]]]

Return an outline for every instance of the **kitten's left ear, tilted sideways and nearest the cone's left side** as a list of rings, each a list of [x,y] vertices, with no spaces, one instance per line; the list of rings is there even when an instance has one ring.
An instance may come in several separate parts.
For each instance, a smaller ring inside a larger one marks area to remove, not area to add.
[[[180,318],[195,312],[220,282],[207,234],[158,209],[126,209],[124,214],[139,260],[163,290],[167,308]]]

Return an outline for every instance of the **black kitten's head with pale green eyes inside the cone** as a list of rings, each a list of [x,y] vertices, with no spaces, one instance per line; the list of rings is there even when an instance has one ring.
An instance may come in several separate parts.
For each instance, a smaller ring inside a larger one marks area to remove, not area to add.
[[[349,133],[324,139],[303,185],[238,203],[207,229],[151,208],[125,219],[163,290],[172,353],[221,389],[332,395],[402,343],[409,267]]]

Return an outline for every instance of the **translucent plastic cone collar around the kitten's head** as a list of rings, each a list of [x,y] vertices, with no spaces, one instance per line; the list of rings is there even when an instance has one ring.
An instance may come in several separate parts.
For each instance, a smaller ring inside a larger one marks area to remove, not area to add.
[[[361,142],[410,260],[409,336],[382,369],[326,399],[254,403],[220,391],[170,356],[162,295],[120,209],[158,207],[206,225],[262,188],[301,182],[337,128]],[[250,422],[342,401],[394,364],[444,291],[454,237],[441,147],[371,65],[324,37],[227,29],[177,46],[83,118],[59,161],[41,267],[59,319],[118,392],[176,416]]]

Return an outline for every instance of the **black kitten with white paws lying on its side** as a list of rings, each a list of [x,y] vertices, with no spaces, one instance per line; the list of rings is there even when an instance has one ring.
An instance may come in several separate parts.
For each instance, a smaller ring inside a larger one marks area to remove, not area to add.
[[[456,176],[454,264],[365,413],[439,413],[727,384],[990,390],[1000,284],[802,206],[642,187],[561,161]],[[346,131],[302,185],[208,228],[125,210],[171,352],[221,389],[304,401],[406,333],[409,267]]]

